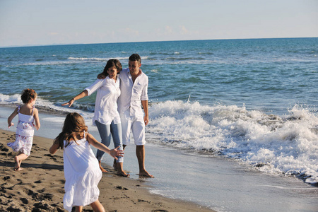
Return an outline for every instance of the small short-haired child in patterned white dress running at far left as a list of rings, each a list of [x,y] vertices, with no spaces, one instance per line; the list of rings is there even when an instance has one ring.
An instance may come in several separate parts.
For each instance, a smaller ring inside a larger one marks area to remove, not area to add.
[[[12,119],[18,114],[18,125],[16,126],[16,141],[8,143],[13,151],[18,152],[14,158],[15,171],[23,170],[20,165],[22,160],[28,158],[31,152],[34,128],[40,129],[39,112],[34,107],[37,93],[33,89],[25,89],[21,95],[24,105],[16,107],[16,110],[8,117],[8,127],[13,126]],[[34,124],[35,122],[35,124]]]

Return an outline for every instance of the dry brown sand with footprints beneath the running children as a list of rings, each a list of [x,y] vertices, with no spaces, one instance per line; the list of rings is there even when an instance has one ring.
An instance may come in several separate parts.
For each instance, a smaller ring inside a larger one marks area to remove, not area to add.
[[[31,154],[21,164],[23,170],[14,171],[16,153],[6,145],[14,140],[14,132],[0,129],[0,211],[64,211],[63,152],[49,154],[52,139],[35,136]],[[106,211],[212,211],[151,194],[143,179],[119,177],[108,170],[98,185]],[[93,210],[85,206],[83,211]]]

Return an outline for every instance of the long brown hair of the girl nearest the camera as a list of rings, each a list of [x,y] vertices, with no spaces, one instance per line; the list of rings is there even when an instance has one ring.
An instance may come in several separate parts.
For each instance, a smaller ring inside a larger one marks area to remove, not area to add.
[[[59,148],[64,148],[64,140],[66,146],[69,145],[69,141],[76,142],[76,136],[87,131],[88,127],[85,124],[84,118],[77,112],[70,112],[66,115],[64,126],[57,138],[54,139],[54,143],[59,144]]]

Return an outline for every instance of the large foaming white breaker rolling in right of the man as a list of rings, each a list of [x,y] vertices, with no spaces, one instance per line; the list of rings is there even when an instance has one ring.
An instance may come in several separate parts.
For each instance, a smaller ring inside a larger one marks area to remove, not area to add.
[[[156,141],[318,182],[318,117],[302,107],[279,117],[236,105],[167,101],[153,104],[149,112],[148,131]]]

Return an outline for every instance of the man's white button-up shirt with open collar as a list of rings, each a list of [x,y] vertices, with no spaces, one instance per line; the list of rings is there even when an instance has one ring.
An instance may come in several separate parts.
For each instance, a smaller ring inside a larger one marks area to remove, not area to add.
[[[143,116],[141,100],[148,100],[148,76],[141,71],[134,83],[127,68],[120,71],[119,78],[122,92],[118,98],[119,114],[130,110],[131,116]]]

